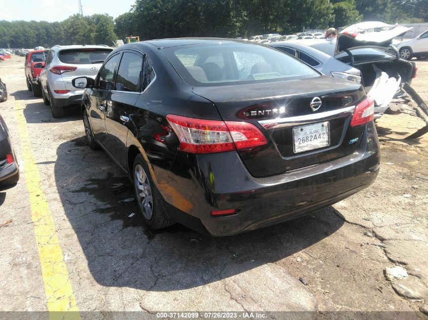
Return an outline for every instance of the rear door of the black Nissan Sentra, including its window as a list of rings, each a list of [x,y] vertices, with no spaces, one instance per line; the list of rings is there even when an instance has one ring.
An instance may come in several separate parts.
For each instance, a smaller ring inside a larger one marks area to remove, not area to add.
[[[127,124],[141,89],[142,53],[134,50],[124,51],[106,105],[105,128],[108,153],[126,169]]]

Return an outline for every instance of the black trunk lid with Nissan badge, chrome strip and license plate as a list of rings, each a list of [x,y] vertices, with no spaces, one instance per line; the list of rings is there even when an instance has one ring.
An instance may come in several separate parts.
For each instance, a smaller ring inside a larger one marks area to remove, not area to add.
[[[263,132],[267,145],[238,151],[257,177],[348,155],[358,145],[349,141],[358,141],[363,133],[361,127],[349,127],[355,105],[365,96],[362,86],[328,76],[230,85],[227,89],[193,87],[193,93],[212,101],[223,121],[250,122]],[[299,138],[301,142],[314,134],[317,141],[299,146]]]

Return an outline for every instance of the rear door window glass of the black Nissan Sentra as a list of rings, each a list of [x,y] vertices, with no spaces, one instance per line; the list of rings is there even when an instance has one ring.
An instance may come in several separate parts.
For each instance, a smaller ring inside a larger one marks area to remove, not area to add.
[[[115,90],[139,92],[142,64],[142,55],[125,52],[119,65]]]

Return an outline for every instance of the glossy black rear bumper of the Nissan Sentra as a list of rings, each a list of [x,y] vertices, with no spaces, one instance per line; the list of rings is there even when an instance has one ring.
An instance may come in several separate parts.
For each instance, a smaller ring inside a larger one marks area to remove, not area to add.
[[[380,162],[373,122],[366,125],[355,153],[271,177],[252,177],[235,151],[189,155],[186,172],[182,160],[176,159],[168,173],[155,169],[167,213],[214,236],[254,230],[334,204],[367,188]],[[229,216],[210,214],[223,209],[237,210]]]

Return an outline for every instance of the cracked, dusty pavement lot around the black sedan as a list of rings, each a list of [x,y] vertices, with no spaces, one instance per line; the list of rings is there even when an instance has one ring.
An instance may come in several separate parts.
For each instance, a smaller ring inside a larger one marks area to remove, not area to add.
[[[130,186],[127,177],[104,152],[86,146],[78,108],[52,118],[49,106],[26,89],[22,63],[13,56],[0,64],[9,92],[0,113],[21,168],[18,184],[0,191],[0,223],[12,219],[0,227],[0,311],[55,310],[52,297],[66,288],[71,294],[55,300],[68,299],[66,308],[87,318],[109,318],[107,311],[154,317],[157,311],[310,311],[271,316],[426,318],[419,308],[428,312],[428,134],[404,139],[423,126],[420,119],[406,114],[379,119],[382,160],[376,181],[332,207],[234,237],[212,238],[181,225],[153,232],[135,202],[121,202],[132,198],[132,191],[112,188]],[[413,87],[428,101],[428,62],[417,64]],[[41,182],[34,187],[37,176]],[[31,188],[41,192],[33,197]],[[53,219],[50,232],[34,219],[44,199]],[[41,233],[57,239],[62,269],[47,271],[41,263]],[[387,280],[385,269],[394,266],[408,277]],[[47,277],[62,280],[52,284]]]

